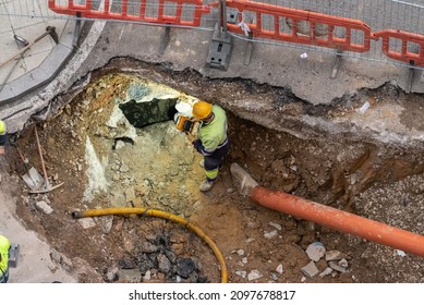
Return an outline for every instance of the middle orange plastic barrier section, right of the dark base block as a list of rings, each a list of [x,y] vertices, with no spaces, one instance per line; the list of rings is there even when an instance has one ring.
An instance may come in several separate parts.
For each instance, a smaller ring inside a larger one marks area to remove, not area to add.
[[[217,2],[211,4],[218,5]],[[238,9],[239,22],[242,22],[242,13],[250,11],[255,13],[255,23],[245,23],[254,37],[268,38],[314,45],[327,48],[340,48],[346,51],[366,52],[370,50],[370,40],[373,39],[370,26],[359,20],[326,15],[322,13],[302,11],[296,9],[277,7],[267,3],[252,2],[249,0],[227,0],[228,8]],[[272,28],[264,28],[262,21],[267,17],[271,20]],[[291,23],[291,30],[283,32],[283,22]],[[300,33],[299,24],[307,25],[305,33]],[[229,30],[243,33],[243,29],[235,24],[227,24]],[[319,28],[324,29],[319,33]],[[344,37],[336,37],[335,29],[342,32]],[[352,41],[352,34],[360,41]]]

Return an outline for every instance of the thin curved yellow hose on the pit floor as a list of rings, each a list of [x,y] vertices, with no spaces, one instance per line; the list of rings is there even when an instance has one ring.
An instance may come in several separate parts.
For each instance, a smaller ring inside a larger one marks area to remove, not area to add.
[[[196,233],[202,240],[206,242],[206,244],[213,249],[215,256],[217,257],[219,265],[221,267],[221,283],[228,282],[228,273],[227,273],[227,266],[226,260],[223,259],[223,256],[221,252],[219,251],[218,246],[214,243],[213,240],[210,240],[205,232],[202,231],[201,228],[197,225],[191,223],[189,220],[179,217],[177,215],[166,212],[162,210],[157,209],[146,209],[146,208],[105,208],[105,209],[90,209],[86,211],[73,211],[72,217],[73,218],[84,218],[84,217],[97,217],[97,216],[105,216],[105,215],[128,215],[128,213],[136,213],[136,215],[146,215],[146,216],[156,216],[163,219],[171,220],[173,222],[180,223],[190,230],[192,230],[194,233]]]

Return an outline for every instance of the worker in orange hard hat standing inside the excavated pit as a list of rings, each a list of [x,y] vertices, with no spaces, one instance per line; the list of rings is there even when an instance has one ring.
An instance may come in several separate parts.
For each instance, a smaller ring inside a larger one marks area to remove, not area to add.
[[[227,137],[227,115],[218,105],[197,101],[193,106],[193,117],[201,121],[198,138],[193,141],[193,146],[204,156],[201,166],[205,168],[206,175],[199,188],[202,192],[207,192],[218,178],[223,157],[230,151]]]

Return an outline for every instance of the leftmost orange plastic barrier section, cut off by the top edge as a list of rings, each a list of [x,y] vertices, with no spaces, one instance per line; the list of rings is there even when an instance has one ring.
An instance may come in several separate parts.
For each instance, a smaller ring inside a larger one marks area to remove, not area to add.
[[[210,8],[203,5],[203,0],[122,0],[113,2],[113,8],[120,5],[119,12],[111,12],[110,0],[105,0],[104,7],[93,8],[93,1],[86,0],[85,4],[75,4],[68,0],[68,5],[60,4],[57,0],[49,0],[49,9],[59,14],[76,15],[86,19],[124,20],[133,22],[148,22],[159,24],[175,24],[183,26],[199,26],[202,14],[208,13]],[[174,11],[166,14],[165,9]]]

